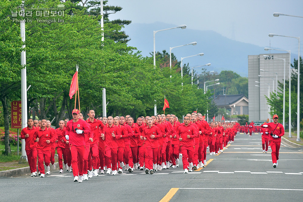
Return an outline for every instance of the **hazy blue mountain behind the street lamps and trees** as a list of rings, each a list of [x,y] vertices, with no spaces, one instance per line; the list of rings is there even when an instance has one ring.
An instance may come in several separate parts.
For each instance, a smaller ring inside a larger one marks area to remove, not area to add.
[[[136,47],[141,51],[142,56],[150,56],[153,52],[153,31],[176,27],[178,25],[155,22],[152,24],[131,23],[123,30],[131,40],[129,46]],[[203,52],[204,56],[194,56],[183,59],[183,64],[189,63],[190,67],[211,63],[211,66],[204,66],[207,71],[215,70],[218,73],[222,70],[232,70],[241,76],[248,76],[248,55],[269,54],[264,47],[238,42],[228,39],[217,32],[210,30],[171,29],[157,32],[155,34],[156,52],[166,50],[169,47],[197,42],[197,45],[186,45],[172,49],[172,52],[180,61],[181,57],[196,55]],[[265,45],[266,46],[266,45]],[[201,72],[200,68],[195,68]]]

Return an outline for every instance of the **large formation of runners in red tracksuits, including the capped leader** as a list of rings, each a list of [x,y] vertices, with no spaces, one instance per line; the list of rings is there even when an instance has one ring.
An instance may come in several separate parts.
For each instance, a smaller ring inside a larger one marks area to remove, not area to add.
[[[238,123],[207,123],[201,113],[187,114],[184,123],[174,114],[140,116],[136,123],[129,115],[95,119],[92,109],[87,115],[84,121],[80,111],[74,109],[73,119],[60,120],[56,130],[45,119],[39,126],[38,120],[28,119],[28,127],[22,130],[21,138],[25,139],[31,176],[37,176],[37,156],[40,177],[50,174],[50,163],[55,169],[55,148],[59,173],[63,173],[63,169],[73,172],[74,182],[88,180],[105,171],[116,175],[139,169],[153,174],[179,167],[179,155],[184,173],[188,173],[205,167],[207,148],[210,155],[223,152],[228,143],[233,143],[239,129]]]

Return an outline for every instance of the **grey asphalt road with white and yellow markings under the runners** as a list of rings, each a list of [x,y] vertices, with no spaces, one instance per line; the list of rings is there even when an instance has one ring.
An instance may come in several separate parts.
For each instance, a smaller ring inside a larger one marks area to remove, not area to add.
[[[180,167],[153,175],[126,171],[82,183],[57,169],[45,178],[0,178],[0,201],[302,201],[302,149],[281,145],[277,168],[270,152],[262,153],[260,134],[238,133],[223,153],[208,153],[208,165],[192,173],[183,174],[181,157]]]

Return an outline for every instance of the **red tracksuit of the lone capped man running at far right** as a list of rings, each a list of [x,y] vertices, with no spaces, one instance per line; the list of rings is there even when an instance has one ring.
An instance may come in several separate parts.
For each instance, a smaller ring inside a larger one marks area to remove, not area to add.
[[[269,145],[271,148],[271,160],[272,163],[277,163],[277,160],[279,160],[279,150],[281,145],[281,136],[284,135],[284,127],[281,123],[274,124],[272,123],[266,123],[262,124],[261,127],[264,127],[263,125],[268,125],[268,133],[274,133],[275,135],[279,136],[278,138],[274,138],[271,135],[269,135]]]

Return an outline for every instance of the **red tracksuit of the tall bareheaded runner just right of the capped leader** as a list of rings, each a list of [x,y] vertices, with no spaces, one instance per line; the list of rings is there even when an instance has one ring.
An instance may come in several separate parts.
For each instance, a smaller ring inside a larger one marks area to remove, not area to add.
[[[97,164],[98,164],[98,158],[99,158],[99,137],[101,133],[104,134],[104,125],[101,120],[96,120],[94,118],[93,122],[91,122],[89,119],[86,120],[86,122],[92,126],[92,133],[93,133],[93,141],[90,142],[90,150],[88,154],[88,169],[92,170],[97,169]],[[101,128],[101,133],[99,130],[99,127]]]

